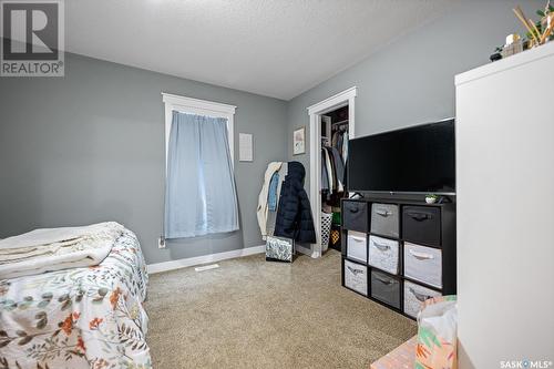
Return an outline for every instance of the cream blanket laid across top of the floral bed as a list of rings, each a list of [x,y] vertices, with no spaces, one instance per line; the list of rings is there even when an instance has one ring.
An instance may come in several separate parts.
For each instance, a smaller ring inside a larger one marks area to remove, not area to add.
[[[0,240],[0,279],[99,265],[124,232],[115,222],[35,229]]]

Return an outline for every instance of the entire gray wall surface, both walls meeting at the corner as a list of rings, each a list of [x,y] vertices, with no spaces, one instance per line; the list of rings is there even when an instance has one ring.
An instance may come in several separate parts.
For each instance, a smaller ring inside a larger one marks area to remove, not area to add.
[[[2,78],[0,237],[115,219],[136,230],[148,263],[260,245],[256,205],[267,162],[298,160],[309,170],[309,154],[291,155],[294,129],[309,123],[307,106],[357,85],[358,136],[453,116],[453,76],[486,63],[507,33],[521,31],[511,12],[515,4],[453,6],[288,103],[78,55],[68,55],[63,79]],[[523,3],[527,16],[542,6]],[[162,91],[235,104],[235,145],[238,132],[254,134],[255,162],[236,161],[240,232],[157,249],[165,163]],[[309,175],[307,187],[308,182]]]

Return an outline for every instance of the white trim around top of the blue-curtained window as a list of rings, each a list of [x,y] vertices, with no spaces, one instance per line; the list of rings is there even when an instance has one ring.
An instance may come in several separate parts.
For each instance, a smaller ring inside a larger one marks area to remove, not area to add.
[[[204,116],[224,117],[227,120],[227,136],[229,141],[230,162],[235,166],[235,111],[237,106],[222,104],[207,100],[174,95],[162,92],[165,104],[165,166],[167,168],[167,154],[170,147],[170,133],[172,130],[173,111]]]

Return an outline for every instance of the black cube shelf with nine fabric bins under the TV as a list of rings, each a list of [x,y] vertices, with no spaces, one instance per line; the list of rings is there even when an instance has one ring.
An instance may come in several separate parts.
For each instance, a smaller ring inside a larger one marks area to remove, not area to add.
[[[345,287],[412,319],[425,299],[455,294],[455,203],[369,196],[341,206]],[[356,281],[347,266],[362,270]]]

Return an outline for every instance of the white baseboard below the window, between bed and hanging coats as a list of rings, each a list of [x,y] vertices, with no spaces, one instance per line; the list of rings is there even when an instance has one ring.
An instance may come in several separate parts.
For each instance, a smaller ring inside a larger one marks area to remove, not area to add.
[[[186,259],[148,264],[146,266],[146,270],[148,271],[148,274],[155,274],[155,273],[162,273],[162,271],[174,270],[174,269],[179,269],[179,268],[186,268],[186,267],[199,265],[199,264],[207,264],[207,263],[214,263],[214,262],[219,262],[219,260],[225,260],[225,259],[233,259],[236,257],[243,257],[243,256],[248,256],[248,255],[254,255],[254,254],[263,254],[265,252],[266,252],[265,245],[247,247],[247,248],[239,248],[239,249],[234,249],[234,250],[225,252],[225,253],[188,257]]]

